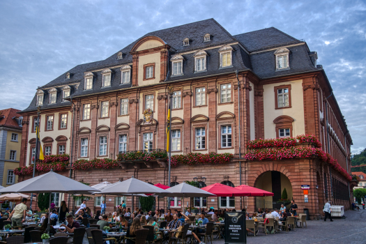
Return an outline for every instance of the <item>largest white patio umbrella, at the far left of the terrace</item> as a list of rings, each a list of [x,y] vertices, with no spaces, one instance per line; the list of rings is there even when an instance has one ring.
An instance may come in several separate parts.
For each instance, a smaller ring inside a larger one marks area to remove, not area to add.
[[[89,185],[84,185],[74,181],[72,178],[66,176],[61,176],[61,174],[55,173],[52,169],[47,174],[43,174],[29,180],[16,183],[15,185],[10,185],[7,188],[0,190],[3,192],[22,192],[22,193],[51,193],[51,192],[61,192],[61,193],[89,193],[98,192],[95,188],[91,188]],[[49,194],[49,215],[48,215],[48,227],[51,220],[51,194]]]

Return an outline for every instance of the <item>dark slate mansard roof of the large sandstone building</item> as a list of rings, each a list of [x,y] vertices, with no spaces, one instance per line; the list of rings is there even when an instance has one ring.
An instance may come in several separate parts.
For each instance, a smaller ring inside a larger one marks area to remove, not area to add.
[[[208,42],[204,42],[206,33],[211,35],[211,40]],[[171,76],[171,62],[169,61],[170,71],[169,76],[167,77],[168,82],[195,79],[208,75],[232,73],[234,70],[251,70],[260,79],[321,70],[321,68],[316,68],[314,63],[312,63],[312,60],[310,59],[310,50],[306,43],[297,40],[274,27],[231,36],[227,30],[218,24],[218,22],[209,19],[175,26],[169,29],[162,29],[160,31],[153,31],[142,36],[142,38],[146,36],[156,36],[172,47],[169,58],[174,54],[181,54],[184,57],[183,75]],[[183,40],[185,38],[189,38],[190,45],[183,45]],[[42,109],[63,107],[71,104],[70,102],[62,102],[61,89],[62,86],[65,86],[66,84],[69,84],[71,87],[72,97],[129,88],[131,84],[121,85],[121,71],[119,69],[124,64],[132,64],[132,55],[130,54],[130,51],[137,41],[138,40],[135,40],[135,42],[130,43],[130,45],[124,47],[105,60],[75,66],[48,84],[40,86],[39,89],[45,91]],[[233,48],[232,67],[220,69],[220,55],[218,49],[223,45],[228,44]],[[275,71],[275,48],[288,45],[292,45],[291,47],[287,47],[290,51],[290,69]],[[206,57],[207,71],[195,73],[195,58],[193,55],[194,52],[199,49],[205,49],[208,54]],[[123,53],[123,59],[117,59],[117,54],[119,52]],[[112,68],[116,66],[119,67]],[[108,88],[101,87],[101,70],[104,68],[110,68],[112,70],[111,86]],[[84,73],[93,70],[100,70],[93,72],[95,75],[93,78],[93,89],[91,91],[84,91]],[[70,79],[66,79],[67,73],[70,73]],[[79,84],[78,87],[76,86],[77,84]],[[47,90],[55,86],[58,90],[57,100],[55,104],[49,105]],[[23,112],[36,109],[36,96],[34,96],[31,105],[23,110]]]

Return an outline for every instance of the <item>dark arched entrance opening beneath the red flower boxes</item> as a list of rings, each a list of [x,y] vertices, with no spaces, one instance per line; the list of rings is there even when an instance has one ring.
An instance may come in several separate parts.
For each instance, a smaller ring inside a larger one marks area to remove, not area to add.
[[[292,199],[292,186],[289,178],[279,171],[266,171],[258,176],[254,187],[273,192],[273,197],[256,197],[256,208],[277,208],[281,204],[287,208]],[[287,197],[286,197],[287,195]],[[284,198],[282,198],[284,197]]]

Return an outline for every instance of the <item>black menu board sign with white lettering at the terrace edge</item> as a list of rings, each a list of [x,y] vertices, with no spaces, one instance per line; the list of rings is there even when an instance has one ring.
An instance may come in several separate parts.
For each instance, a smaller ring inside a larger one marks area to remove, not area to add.
[[[245,212],[225,213],[225,243],[247,243]]]

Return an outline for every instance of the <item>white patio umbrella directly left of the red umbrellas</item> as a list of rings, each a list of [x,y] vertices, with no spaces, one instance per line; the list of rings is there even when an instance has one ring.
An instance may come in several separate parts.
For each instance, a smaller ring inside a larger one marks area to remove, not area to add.
[[[206,190],[201,190],[184,182],[171,188],[167,188],[167,191],[170,192],[167,197],[183,197],[183,212],[184,197],[216,197],[216,195],[206,192]]]

